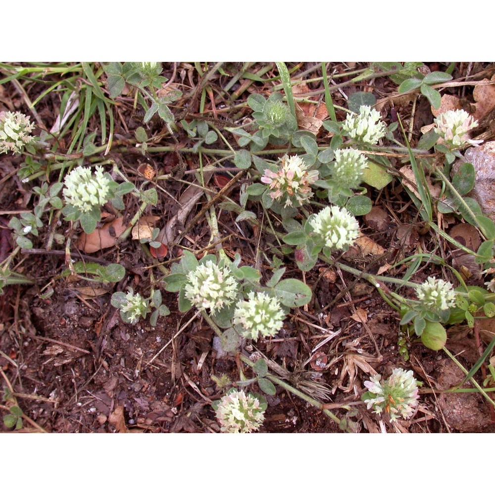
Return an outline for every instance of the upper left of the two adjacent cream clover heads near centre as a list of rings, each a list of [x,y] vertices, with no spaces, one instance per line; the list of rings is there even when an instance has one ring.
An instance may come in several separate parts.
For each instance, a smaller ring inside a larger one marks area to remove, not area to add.
[[[232,304],[238,286],[230,270],[219,268],[212,260],[198,265],[186,278],[185,296],[198,308],[209,309],[212,314],[223,306]]]

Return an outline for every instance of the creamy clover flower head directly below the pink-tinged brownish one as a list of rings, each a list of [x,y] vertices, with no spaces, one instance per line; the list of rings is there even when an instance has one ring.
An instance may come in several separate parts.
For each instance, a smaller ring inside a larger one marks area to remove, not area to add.
[[[346,208],[327,206],[315,215],[309,224],[313,232],[331,249],[346,250],[359,236],[359,224]]]

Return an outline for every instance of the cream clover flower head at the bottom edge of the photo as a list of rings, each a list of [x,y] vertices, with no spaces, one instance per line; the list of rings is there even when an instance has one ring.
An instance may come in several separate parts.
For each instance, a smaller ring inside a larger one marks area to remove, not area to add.
[[[217,404],[216,417],[224,433],[250,433],[258,430],[264,420],[259,400],[243,390],[234,390]]]

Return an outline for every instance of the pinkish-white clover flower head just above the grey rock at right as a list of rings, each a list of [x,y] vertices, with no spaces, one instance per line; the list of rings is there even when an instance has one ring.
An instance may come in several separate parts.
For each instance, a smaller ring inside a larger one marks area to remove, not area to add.
[[[444,144],[450,148],[462,148],[469,144],[479,146],[482,139],[469,139],[469,131],[478,127],[478,121],[469,115],[465,110],[447,110],[441,113],[434,122],[437,124],[433,128],[443,140]]]

